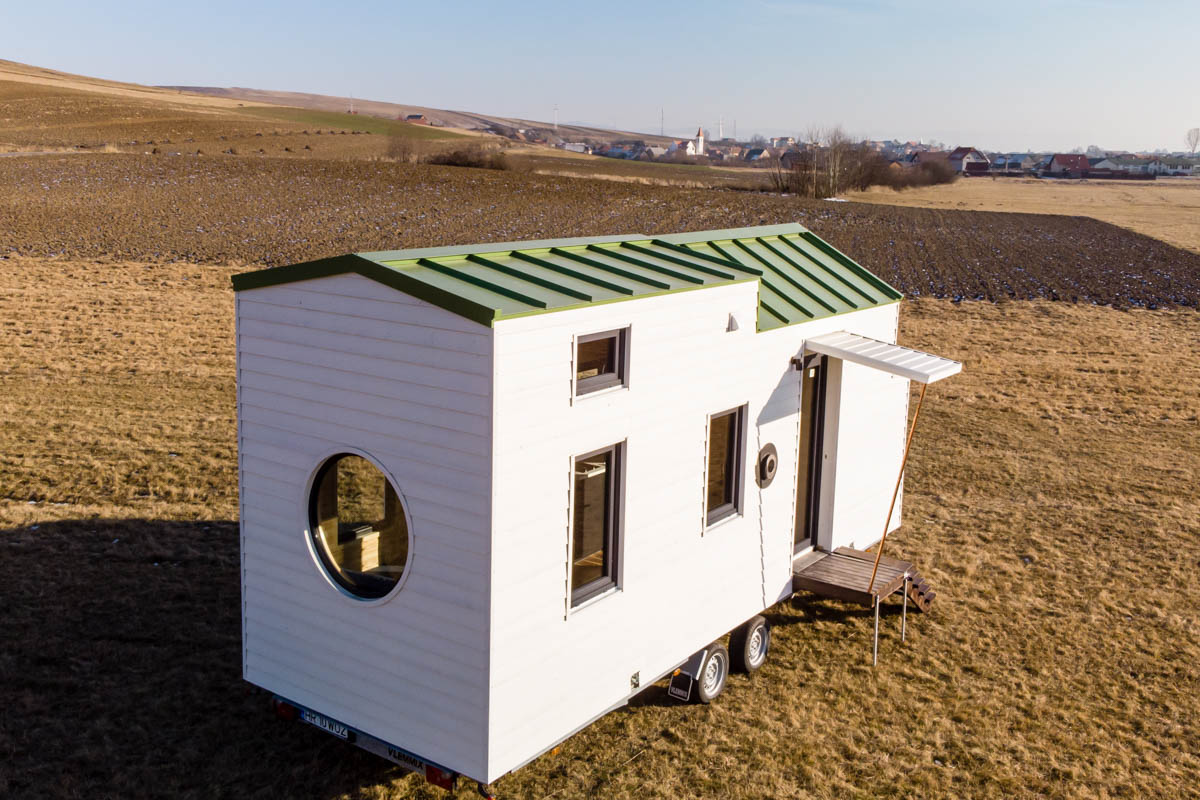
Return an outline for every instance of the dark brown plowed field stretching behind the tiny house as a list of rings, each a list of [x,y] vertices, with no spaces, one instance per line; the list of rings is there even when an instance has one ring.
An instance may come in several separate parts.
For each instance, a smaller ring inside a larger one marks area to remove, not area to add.
[[[0,254],[275,265],[367,249],[800,222],[918,296],[1150,308],[1200,301],[1200,254],[1086,217],[221,155],[5,158],[0,187]]]

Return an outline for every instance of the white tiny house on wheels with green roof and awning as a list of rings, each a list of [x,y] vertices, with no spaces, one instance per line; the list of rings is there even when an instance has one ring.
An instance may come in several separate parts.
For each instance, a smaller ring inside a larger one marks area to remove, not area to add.
[[[234,288],[242,674],[443,786],[755,669],[793,560],[900,524],[910,380],[954,371],[794,224]]]

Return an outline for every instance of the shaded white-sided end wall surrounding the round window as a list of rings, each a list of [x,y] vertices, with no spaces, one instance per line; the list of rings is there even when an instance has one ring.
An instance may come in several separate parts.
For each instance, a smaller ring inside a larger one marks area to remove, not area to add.
[[[486,770],[492,338],[354,275],[238,295],[246,679],[467,775]],[[340,450],[395,479],[409,571],[385,602],[313,558]]]

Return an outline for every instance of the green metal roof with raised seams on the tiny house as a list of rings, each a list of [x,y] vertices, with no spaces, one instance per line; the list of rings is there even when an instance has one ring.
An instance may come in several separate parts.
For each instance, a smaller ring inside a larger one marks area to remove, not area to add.
[[[798,224],[384,251],[235,275],[236,291],[356,272],[484,325],[500,319],[758,282],[758,330],[901,294]]]

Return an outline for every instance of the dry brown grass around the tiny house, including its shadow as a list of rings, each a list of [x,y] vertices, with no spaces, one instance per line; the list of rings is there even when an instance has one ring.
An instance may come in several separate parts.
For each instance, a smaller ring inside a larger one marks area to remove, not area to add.
[[[240,681],[232,270],[4,264],[0,794],[442,796]],[[502,796],[1194,793],[1200,314],[925,300],[901,333],[966,362],[890,551],[938,591],[908,644],[889,614],[872,670],[864,609],[778,607],[754,679],[652,687]]]

